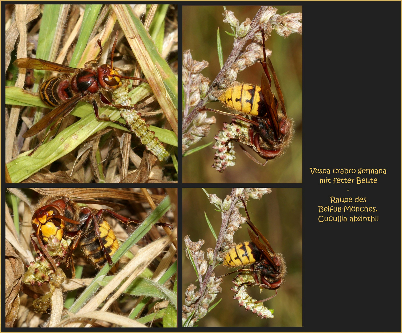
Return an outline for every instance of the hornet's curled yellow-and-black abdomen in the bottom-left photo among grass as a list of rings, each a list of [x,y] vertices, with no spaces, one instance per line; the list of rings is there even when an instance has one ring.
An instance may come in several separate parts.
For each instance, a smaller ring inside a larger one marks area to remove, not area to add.
[[[116,235],[109,223],[105,220],[99,222],[99,231],[103,245],[105,246],[106,251],[112,257],[116,253],[117,249],[119,249],[119,242],[117,242]],[[94,266],[101,268],[103,265],[105,265],[105,263],[107,263],[102,246],[99,243],[98,237],[95,235],[93,225],[88,229],[88,232],[81,237],[80,246],[82,252],[88,259],[90,259],[90,261],[92,261]],[[115,265],[115,267],[113,267],[113,273],[115,273],[117,270],[117,265],[118,263]]]

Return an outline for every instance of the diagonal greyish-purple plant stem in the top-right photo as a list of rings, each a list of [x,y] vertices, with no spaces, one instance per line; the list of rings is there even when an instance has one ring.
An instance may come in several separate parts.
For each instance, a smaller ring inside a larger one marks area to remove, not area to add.
[[[242,51],[242,49],[243,49],[244,45],[246,44],[246,42],[249,39],[252,39],[254,37],[254,34],[259,29],[258,24],[260,22],[261,16],[268,9],[268,7],[269,6],[262,6],[258,10],[257,14],[254,16],[254,19],[252,19],[251,26],[250,26],[251,28],[250,28],[249,33],[246,36],[244,36],[242,38],[238,38],[238,39],[236,39],[234,41],[234,46],[233,46],[232,52],[230,53],[230,55],[228,57],[228,60],[226,60],[226,62],[224,64],[224,66],[222,67],[222,69],[219,71],[219,73],[216,76],[215,80],[213,80],[211,86],[209,86],[207,96],[211,92],[211,89],[214,86],[216,86],[217,84],[222,82],[222,80],[225,77],[226,72],[232,66],[232,64],[234,63],[234,61],[238,57],[239,53]],[[206,103],[207,103],[207,99],[205,99],[205,101],[203,99],[201,99],[201,101],[199,101],[198,104],[194,107],[193,111],[191,111],[189,116],[185,117],[183,119],[183,130],[182,130],[183,133],[187,130],[187,128],[190,126],[191,122],[194,120],[195,116],[197,115],[198,110],[201,107],[203,107]],[[214,255],[215,255],[215,253],[214,253]]]

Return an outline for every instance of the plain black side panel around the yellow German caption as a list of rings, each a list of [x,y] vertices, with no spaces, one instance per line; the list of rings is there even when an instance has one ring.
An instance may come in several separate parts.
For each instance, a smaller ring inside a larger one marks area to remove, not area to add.
[[[303,326],[400,332],[401,4],[327,4],[303,6]],[[320,185],[310,167],[387,174]],[[367,197],[379,222],[319,223],[330,195]]]

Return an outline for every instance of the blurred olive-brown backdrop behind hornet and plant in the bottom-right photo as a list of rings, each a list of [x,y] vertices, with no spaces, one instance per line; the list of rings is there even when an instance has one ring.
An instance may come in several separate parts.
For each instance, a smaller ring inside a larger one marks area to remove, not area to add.
[[[215,193],[224,199],[230,195],[229,189],[206,189],[209,194]],[[250,199],[247,210],[251,221],[267,237],[272,248],[282,253],[287,263],[285,283],[278,289],[278,295],[265,302],[265,306],[274,309],[273,319],[261,319],[244,307],[239,307],[238,301],[233,299],[234,292],[230,290],[235,274],[224,277],[220,285],[222,293],[215,299],[221,302],[213,308],[203,319],[197,322],[200,327],[205,326],[302,326],[302,190],[295,188],[272,189],[271,194],[263,195],[262,199]],[[207,214],[216,234],[219,234],[221,213],[216,211],[215,205],[209,203],[207,195],[202,189],[183,189],[183,236],[189,235],[193,242],[205,240],[201,248],[204,252],[208,247],[215,248],[215,238],[211,234],[205,221]],[[244,209],[240,213],[246,216]],[[250,240],[246,225],[234,234],[234,241],[242,243]],[[185,248],[183,242],[183,248]],[[216,275],[228,273],[230,270],[222,265],[216,267]],[[191,263],[183,250],[183,297],[189,284],[193,283],[199,290],[199,283]],[[267,298],[275,292],[263,290],[259,294],[258,287],[249,287],[247,292],[257,300]],[[183,298],[184,300],[184,298]],[[182,300],[182,304],[183,304]],[[215,303],[214,302],[214,303]]]

